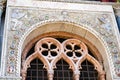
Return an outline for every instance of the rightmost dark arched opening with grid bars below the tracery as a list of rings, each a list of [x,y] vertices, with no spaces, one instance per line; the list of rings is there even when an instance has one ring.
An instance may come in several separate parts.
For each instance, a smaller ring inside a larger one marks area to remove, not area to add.
[[[98,80],[98,72],[94,69],[94,65],[85,60],[80,70],[80,80]]]

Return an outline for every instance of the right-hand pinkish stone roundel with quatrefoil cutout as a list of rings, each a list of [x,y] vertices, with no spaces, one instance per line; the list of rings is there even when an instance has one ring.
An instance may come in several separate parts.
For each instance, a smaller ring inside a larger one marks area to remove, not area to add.
[[[84,43],[77,39],[68,39],[63,42],[64,53],[70,57],[74,62],[87,54],[87,47]]]

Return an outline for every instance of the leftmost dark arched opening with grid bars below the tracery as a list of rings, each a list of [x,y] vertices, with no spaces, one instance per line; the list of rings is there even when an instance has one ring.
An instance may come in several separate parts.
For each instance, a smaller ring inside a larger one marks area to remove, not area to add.
[[[38,59],[34,59],[27,69],[26,80],[48,80],[47,71],[43,68],[43,63]]]

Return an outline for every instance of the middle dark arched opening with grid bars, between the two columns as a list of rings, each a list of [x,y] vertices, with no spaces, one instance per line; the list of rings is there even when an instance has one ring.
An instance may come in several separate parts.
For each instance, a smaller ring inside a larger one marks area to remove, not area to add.
[[[73,80],[73,72],[69,69],[68,63],[63,59],[59,60],[56,64],[56,69],[54,70],[53,80]]]

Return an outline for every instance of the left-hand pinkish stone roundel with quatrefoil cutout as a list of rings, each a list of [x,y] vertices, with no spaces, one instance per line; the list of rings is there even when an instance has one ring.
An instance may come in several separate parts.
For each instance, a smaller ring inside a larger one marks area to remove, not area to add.
[[[45,57],[52,58],[61,53],[61,44],[54,38],[43,38],[36,44],[35,50]]]

